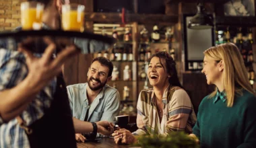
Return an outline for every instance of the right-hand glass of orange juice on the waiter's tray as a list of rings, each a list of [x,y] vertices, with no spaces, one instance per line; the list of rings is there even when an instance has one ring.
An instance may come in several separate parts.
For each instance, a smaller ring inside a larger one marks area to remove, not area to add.
[[[65,31],[84,32],[84,5],[62,5],[62,29]]]

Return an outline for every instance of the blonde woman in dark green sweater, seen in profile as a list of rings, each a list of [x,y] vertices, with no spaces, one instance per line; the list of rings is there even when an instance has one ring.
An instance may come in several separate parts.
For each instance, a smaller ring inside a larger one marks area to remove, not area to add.
[[[242,55],[232,43],[203,53],[202,73],[216,90],[203,98],[193,136],[201,147],[256,147],[256,94]]]

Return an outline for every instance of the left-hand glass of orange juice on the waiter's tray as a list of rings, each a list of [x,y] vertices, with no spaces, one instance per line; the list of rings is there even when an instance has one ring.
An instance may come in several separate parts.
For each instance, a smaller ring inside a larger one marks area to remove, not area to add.
[[[20,5],[22,30],[38,30],[42,26],[44,4],[36,1],[25,1]]]

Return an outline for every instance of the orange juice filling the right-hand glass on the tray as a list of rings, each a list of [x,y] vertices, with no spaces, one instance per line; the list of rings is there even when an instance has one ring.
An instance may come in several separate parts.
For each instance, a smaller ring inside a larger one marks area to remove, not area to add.
[[[75,10],[65,11],[62,13],[62,28],[69,31],[84,31],[84,12]]]

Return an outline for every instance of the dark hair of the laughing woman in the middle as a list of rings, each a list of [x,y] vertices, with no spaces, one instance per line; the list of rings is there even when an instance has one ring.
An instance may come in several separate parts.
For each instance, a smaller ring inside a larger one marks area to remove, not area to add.
[[[164,71],[166,71],[170,75],[170,78],[168,79],[170,85],[179,86],[183,88],[179,81],[179,77],[175,67],[176,63],[172,59],[170,54],[168,54],[165,51],[156,52],[155,54],[152,55],[152,57],[150,57],[150,59],[148,59],[148,63],[150,63],[153,57],[158,57],[160,59],[160,64],[162,65],[162,67],[164,67],[164,65],[162,64],[161,59],[165,61],[166,69],[164,69]]]

